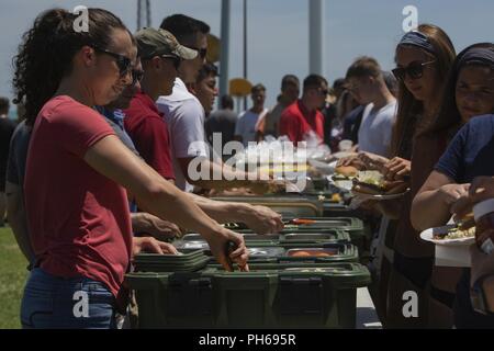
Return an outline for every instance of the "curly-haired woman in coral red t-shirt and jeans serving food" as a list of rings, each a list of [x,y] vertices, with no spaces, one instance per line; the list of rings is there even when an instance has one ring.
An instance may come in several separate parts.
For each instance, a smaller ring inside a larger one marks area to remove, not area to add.
[[[132,35],[112,13],[89,9],[89,31],[77,16],[42,13],[15,57],[14,91],[33,125],[25,204],[36,257],[21,308],[25,328],[112,328],[124,310],[124,274],[142,250],[133,238],[125,189],[145,211],[203,235],[216,259],[248,269],[244,240],[209,218],[114,135],[92,107],[106,105],[131,83]]]

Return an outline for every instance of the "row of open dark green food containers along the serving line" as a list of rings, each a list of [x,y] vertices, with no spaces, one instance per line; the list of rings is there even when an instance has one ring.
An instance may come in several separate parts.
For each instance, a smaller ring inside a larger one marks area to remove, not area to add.
[[[173,242],[179,256],[138,254],[126,283],[139,328],[355,328],[357,288],[371,283],[353,245],[366,233],[361,219],[322,217],[316,196],[224,200],[282,210],[285,228],[258,235],[225,225],[244,235],[249,272],[225,271],[198,234]]]

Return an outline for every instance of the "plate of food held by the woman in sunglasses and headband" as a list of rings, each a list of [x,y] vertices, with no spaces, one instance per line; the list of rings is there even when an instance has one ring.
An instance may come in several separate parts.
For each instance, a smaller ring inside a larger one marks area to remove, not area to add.
[[[379,171],[359,171],[351,182],[351,193],[361,200],[394,200],[409,191],[406,181],[385,180]]]

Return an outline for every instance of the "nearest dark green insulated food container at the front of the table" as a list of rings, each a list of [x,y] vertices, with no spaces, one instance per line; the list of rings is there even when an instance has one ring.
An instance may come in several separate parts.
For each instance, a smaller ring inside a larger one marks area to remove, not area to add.
[[[250,264],[249,272],[131,273],[141,328],[355,328],[359,263]]]

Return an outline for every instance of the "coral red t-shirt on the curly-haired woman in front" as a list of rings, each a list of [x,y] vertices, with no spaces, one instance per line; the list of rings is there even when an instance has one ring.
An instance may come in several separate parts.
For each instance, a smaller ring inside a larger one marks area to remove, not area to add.
[[[69,97],[49,100],[33,128],[24,189],[41,268],[99,281],[116,296],[132,254],[127,196],[83,160],[109,135],[114,132],[94,110]]]

